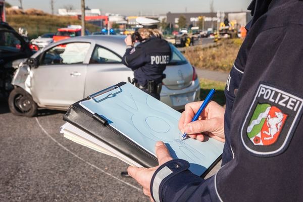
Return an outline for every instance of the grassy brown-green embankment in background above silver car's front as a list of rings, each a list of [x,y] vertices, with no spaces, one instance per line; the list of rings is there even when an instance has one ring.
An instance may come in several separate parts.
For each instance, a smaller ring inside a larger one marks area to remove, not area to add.
[[[81,20],[68,16],[36,16],[36,15],[7,15],[7,22],[16,31],[19,27],[26,28],[28,38],[36,38],[44,33],[56,33],[58,28],[67,27],[67,25],[81,25]],[[85,23],[85,28],[90,32],[99,31],[100,27]]]

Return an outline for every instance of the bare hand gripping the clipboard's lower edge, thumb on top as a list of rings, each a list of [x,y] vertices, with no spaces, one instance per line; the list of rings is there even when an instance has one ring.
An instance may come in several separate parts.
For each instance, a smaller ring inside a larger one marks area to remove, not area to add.
[[[156,143],[156,155],[158,157],[159,166],[172,160],[167,147],[162,141],[158,141]],[[154,168],[138,168],[130,166],[127,169],[128,174],[143,187],[143,193],[149,196],[150,201],[154,201],[150,193],[151,177],[153,177],[159,166]]]

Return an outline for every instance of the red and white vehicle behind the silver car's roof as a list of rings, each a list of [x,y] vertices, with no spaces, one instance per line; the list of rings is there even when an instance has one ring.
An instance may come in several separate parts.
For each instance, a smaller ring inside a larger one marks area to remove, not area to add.
[[[89,31],[85,30],[85,35],[89,35]],[[57,33],[53,36],[54,42],[63,40],[66,38],[81,36],[81,26],[79,25],[70,25],[65,28],[59,28]]]

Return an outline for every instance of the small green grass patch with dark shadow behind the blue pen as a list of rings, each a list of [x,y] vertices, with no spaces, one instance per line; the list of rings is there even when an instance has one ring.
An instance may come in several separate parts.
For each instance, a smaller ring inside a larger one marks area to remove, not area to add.
[[[212,88],[216,89],[216,93],[214,94],[214,97],[212,100],[217,102],[219,105],[223,106],[225,105],[225,95],[224,95],[224,88],[225,88],[225,82],[221,81],[213,81],[209,79],[200,79],[200,98],[201,100],[204,100],[205,97],[208,95],[210,90]]]

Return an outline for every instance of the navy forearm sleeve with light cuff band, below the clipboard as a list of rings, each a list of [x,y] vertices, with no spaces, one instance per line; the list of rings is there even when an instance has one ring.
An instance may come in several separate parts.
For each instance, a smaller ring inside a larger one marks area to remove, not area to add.
[[[150,191],[156,202],[218,201],[214,180],[198,177],[189,170],[185,160],[171,160],[161,165],[151,179]],[[182,180],[180,180],[182,179]]]

